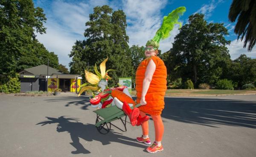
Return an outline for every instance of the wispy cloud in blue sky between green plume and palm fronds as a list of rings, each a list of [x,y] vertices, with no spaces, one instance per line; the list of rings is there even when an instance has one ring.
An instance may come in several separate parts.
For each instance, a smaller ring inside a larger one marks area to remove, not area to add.
[[[212,11],[218,6],[218,4],[222,3],[223,0],[218,0],[217,2],[215,0],[212,0],[209,4],[204,4],[196,13],[204,14],[205,19],[208,19],[212,16]]]

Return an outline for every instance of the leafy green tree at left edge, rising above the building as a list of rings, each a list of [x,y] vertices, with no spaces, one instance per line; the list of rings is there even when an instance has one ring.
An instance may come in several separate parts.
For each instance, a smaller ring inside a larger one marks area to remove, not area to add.
[[[46,28],[43,9],[34,8],[32,0],[0,1],[0,73],[17,71],[22,56],[30,54],[35,32]]]

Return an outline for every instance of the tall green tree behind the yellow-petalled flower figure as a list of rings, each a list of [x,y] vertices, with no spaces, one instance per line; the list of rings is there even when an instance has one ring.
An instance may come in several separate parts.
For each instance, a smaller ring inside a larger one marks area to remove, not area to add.
[[[116,69],[111,72],[113,80],[109,86],[118,83],[118,77],[130,77],[133,74],[131,53],[129,53],[128,36],[126,34],[126,16],[122,10],[113,11],[109,6],[97,6],[86,22],[88,28],[84,32],[86,40],[76,41],[70,53],[70,73],[84,70],[94,71],[107,57],[107,69]],[[89,66],[88,66],[89,65]]]

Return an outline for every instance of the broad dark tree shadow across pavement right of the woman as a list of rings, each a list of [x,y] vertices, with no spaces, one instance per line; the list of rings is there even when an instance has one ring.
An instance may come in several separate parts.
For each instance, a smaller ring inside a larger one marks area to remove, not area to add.
[[[256,101],[165,97],[162,117],[210,127],[256,128]]]

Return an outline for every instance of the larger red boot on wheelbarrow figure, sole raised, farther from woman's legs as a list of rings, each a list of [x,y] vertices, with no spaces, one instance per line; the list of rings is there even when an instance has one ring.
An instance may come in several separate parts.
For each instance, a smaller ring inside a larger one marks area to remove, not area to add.
[[[128,103],[124,102],[122,106],[122,110],[128,115],[131,125],[135,126],[137,124],[137,117],[140,115],[139,108],[131,109]]]

